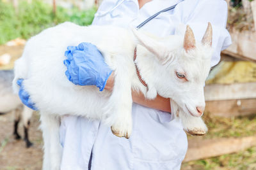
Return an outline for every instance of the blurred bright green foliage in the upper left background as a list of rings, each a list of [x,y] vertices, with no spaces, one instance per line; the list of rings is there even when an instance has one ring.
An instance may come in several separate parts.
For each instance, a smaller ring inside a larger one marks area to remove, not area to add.
[[[0,0],[0,44],[17,37],[28,39],[47,27],[65,21],[90,25],[96,10],[67,10],[58,6],[56,15],[53,15],[51,5],[33,0],[31,3],[20,1],[15,13],[12,4]]]

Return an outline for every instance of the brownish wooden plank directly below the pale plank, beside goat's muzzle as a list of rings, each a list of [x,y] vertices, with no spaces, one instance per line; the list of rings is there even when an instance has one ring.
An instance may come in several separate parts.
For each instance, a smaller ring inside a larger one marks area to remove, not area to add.
[[[256,99],[207,101],[205,112],[219,117],[237,117],[256,113]]]

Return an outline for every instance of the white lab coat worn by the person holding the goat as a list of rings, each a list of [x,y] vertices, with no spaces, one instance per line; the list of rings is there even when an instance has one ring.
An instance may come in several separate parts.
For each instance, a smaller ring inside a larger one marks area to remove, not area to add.
[[[139,10],[138,0],[104,0],[93,24],[136,27],[158,11],[178,2],[154,0]],[[220,61],[220,51],[231,44],[230,35],[225,29],[227,4],[224,0],[182,1],[174,10],[161,13],[141,29],[166,36],[175,34],[177,25],[189,24],[195,38],[200,40],[207,22],[213,26],[214,55],[211,65],[214,66]],[[180,169],[188,148],[186,133],[180,122],[173,120],[169,113],[135,103],[132,104],[132,118],[130,139],[114,136],[110,127],[99,121],[90,122],[86,118],[70,116],[62,118],[61,169],[88,169],[91,152],[92,170]]]

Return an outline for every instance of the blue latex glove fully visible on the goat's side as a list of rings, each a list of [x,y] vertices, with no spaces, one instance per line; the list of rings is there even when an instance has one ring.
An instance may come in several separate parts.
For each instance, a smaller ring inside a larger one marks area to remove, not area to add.
[[[96,85],[102,91],[112,70],[97,47],[91,43],[80,43],[67,49],[64,64],[68,80],[75,85]]]

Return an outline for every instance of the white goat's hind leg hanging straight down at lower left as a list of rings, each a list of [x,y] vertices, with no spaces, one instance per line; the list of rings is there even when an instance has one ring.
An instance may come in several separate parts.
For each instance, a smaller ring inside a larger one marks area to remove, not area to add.
[[[43,170],[59,170],[62,148],[60,145],[60,120],[51,113],[40,113],[41,129],[44,138]]]

